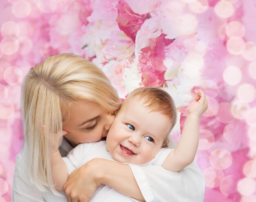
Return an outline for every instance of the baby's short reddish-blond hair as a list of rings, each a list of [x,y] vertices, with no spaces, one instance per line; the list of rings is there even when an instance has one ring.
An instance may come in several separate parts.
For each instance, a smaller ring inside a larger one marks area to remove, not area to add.
[[[177,122],[177,108],[171,97],[166,91],[160,88],[153,87],[141,87],[132,91],[128,97],[122,103],[122,108],[130,101],[130,99],[138,98],[143,101],[143,104],[146,105],[150,112],[161,112],[163,115],[170,119],[170,130],[166,134],[166,139],[163,142],[162,148],[167,147],[171,130],[173,130]]]

